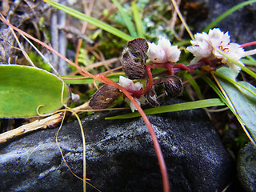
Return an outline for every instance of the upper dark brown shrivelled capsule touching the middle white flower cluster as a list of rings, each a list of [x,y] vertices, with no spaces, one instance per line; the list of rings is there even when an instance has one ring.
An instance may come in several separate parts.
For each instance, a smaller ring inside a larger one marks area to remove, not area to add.
[[[135,58],[141,58],[142,64],[145,63],[146,52],[149,49],[149,45],[144,38],[135,38],[128,42],[127,47],[130,53],[134,55]]]

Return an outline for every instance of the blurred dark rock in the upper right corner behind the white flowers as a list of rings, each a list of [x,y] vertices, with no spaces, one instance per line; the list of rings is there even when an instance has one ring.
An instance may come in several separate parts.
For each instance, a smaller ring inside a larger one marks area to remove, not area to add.
[[[190,25],[194,28],[194,33],[202,30],[210,24],[215,18],[223,14],[231,7],[238,5],[244,0],[192,0],[190,2],[202,2],[205,8],[197,10],[198,17],[194,17],[194,12],[188,15],[188,20],[192,18]],[[206,9],[208,14],[206,14]],[[202,11],[202,13],[200,13]],[[194,17],[194,18],[193,18]],[[243,44],[253,42],[256,38],[256,26],[253,21],[256,19],[256,4],[244,6],[242,9],[235,11],[228,17],[219,22],[217,26],[222,31],[229,31],[232,42]]]

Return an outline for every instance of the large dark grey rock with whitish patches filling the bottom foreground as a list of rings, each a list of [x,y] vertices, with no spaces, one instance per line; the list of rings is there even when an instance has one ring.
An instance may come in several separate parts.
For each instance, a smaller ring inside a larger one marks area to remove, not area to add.
[[[141,118],[104,120],[120,112],[82,119],[86,169],[102,191],[162,191],[150,134]],[[202,110],[149,117],[169,172],[171,191],[221,191],[230,182],[232,160]],[[57,129],[40,130],[0,146],[1,191],[82,191],[82,181],[64,165],[55,143]],[[58,136],[66,162],[82,177],[78,122]],[[87,185],[88,191],[96,191]]]

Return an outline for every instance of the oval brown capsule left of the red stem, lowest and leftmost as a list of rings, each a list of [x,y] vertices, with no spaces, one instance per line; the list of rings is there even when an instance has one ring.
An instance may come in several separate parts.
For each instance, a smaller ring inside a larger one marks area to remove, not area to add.
[[[89,106],[93,110],[106,109],[122,95],[118,88],[109,85],[101,86],[96,93],[90,98]]]

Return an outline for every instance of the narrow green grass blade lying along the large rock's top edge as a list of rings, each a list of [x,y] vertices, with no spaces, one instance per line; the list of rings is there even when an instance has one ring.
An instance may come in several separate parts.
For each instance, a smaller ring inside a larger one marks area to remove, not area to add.
[[[146,115],[162,114],[162,113],[174,112],[179,110],[193,110],[193,109],[209,107],[209,106],[225,106],[225,104],[219,98],[210,98],[210,99],[204,99],[204,100],[199,100],[195,102],[182,102],[182,103],[173,104],[169,106],[158,106],[155,108],[144,110],[144,112]],[[134,112],[132,114],[123,114],[123,115],[118,115],[114,117],[109,117],[106,119],[136,118],[139,116],[140,114],[138,112]]]

